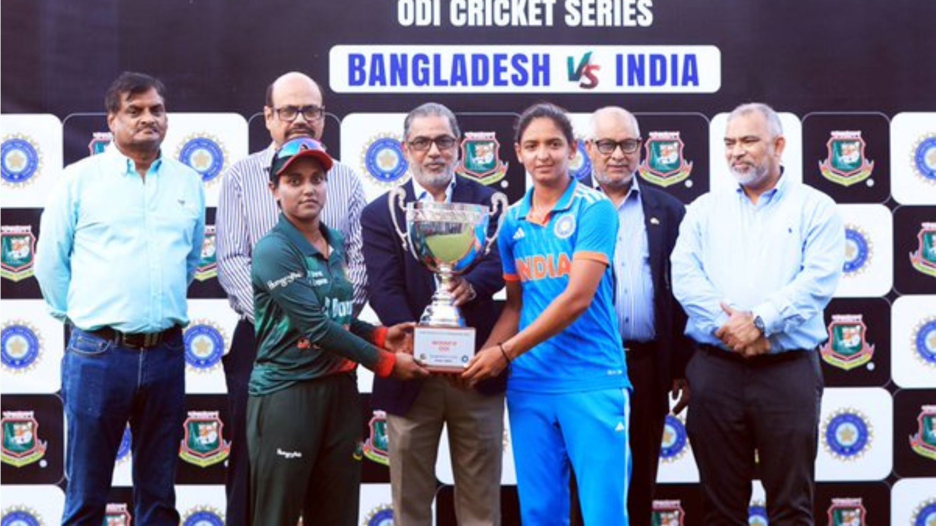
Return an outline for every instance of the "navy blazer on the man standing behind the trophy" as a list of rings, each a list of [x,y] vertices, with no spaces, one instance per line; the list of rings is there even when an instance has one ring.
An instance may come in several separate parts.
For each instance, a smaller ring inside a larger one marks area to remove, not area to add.
[[[490,206],[494,191],[469,179],[456,176],[452,189],[452,202],[475,203]],[[416,200],[413,183],[405,183],[405,201]],[[388,194],[377,197],[361,212],[361,236],[364,241],[364,263],[367,265],[368,296],[371,307],[386,326],[407,321],[418,321],[429,305],[435,282],[431,271],[419,264],[415,257],[404,251],[400,237],[394,231],[388,208]],[[405,228],[405,214],[396,209],[397,221]],[[497,226],[492,218],[488,235]],[[504,287],[504,269],[497,242],[491,243],[490,254],[484,256],[473,270],[463,276],[475,288],[477,296],[461,305],[461,314],[470,327],[474,327],[475,346],[480,348],[488,340],[500,315],[501,306],[491,297]],[[375,409],[392,415],[405,415],[416,400],[422,380],[401,381],[395,378],[374,378],[371,400]],[[481,382],[476,388],[486,394],[504,392],[506,373]]]

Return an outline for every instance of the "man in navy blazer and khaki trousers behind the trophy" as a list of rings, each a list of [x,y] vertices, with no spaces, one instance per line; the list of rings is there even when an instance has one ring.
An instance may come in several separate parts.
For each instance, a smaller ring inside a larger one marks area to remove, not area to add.
[[[406,202],[432,200],[487,205],[494,192],[455,175],[461,132],[445,106],[428,103],[410,111],[403,124],[402,150],[413,179],[403,185]],[[405,227],[405,216],[395,211]],[[496,220],[491,219],[489,236]],[[388,208],[388,195],[361,213],[363,253],[371,307],[381,323],[418,321],[435,291],[436,278],[402,248]],[[504,287],[497,243],[473,270],[455,279],[452,294],[475,346],[488,339],[500,309],[492,300]],[[440,433],[448,431],[455,475],[455,513],[460,524],[499,524],[506,376],[476,388],[457,375],[434,374],[417,381],[374,378],[374,408],[387,412],[390,485],[398,524],[432,524],[435,458]]]

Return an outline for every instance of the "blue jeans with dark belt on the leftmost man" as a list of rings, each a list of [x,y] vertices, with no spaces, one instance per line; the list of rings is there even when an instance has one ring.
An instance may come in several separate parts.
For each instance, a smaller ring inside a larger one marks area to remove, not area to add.
[[[179,524],[176,461],[183,439],[181,338],[146,350],[72,329],[62,358],[66,414],[63,524],[100,526],[127,421],[133,434],[135,524]]]

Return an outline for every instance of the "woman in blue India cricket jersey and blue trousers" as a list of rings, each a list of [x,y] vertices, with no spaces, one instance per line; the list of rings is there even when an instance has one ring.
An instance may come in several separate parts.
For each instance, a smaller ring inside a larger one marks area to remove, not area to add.
[[[498,238],[504,313],[462,374],[510,368],[507,408],[524,524],[567,523],[569,469],[589,525],[626,525],[627,365],[613,305],[618,214],[569,174],[572,124],[551,104],[520,115],[514,148],[534,186]]]

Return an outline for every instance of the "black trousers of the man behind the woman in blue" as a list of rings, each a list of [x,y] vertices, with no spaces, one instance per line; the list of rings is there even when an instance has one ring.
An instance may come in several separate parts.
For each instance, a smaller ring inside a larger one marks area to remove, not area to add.
[[[634,392],[631,394],[631,484],[627,493],[627,514],[631,526],[650,526],[656,472],[663,446],[663,426],[669,404],[668,389],[660,386],[656,371],[655,349],[628,352],[627,374]]]

